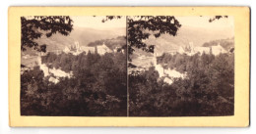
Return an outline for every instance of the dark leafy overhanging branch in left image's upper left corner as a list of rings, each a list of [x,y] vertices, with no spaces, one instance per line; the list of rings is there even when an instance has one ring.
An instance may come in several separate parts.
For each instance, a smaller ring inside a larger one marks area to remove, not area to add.
[[[69,16],[33,16],[22,17],[22,51],[27,47],[33,48],[38,52],[46,52],[46,45],[38,45],[34,39],[42,35],[50,37],[55,33],[69,35],[73,29],[73,21]]]

